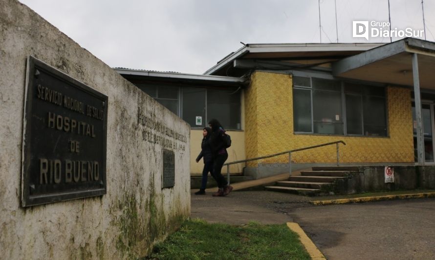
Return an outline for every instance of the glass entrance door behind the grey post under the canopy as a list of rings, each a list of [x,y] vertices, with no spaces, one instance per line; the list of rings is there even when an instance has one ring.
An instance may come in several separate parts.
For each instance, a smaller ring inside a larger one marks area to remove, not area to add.
[[[424,139],[424,161],[426,163],[435,163],[434,161],[434,141],[433,135],[434,124],[434,104],[422,102],[421,117],[423,121],[423,139]],[[413,127],[414,127],[414,160],[417,161],[417,121],[415,120],[415,103],[413,102]]]

